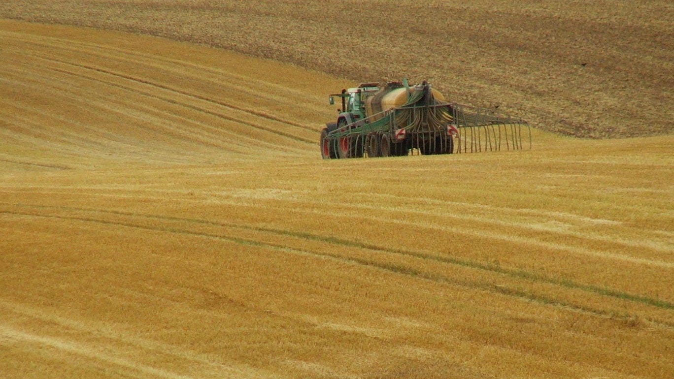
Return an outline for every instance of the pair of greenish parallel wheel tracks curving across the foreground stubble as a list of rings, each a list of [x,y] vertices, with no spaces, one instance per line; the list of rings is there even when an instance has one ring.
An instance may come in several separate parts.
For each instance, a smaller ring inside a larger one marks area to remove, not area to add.
[[[585,294],[601,296],[603,298],[612,298],[614,300],[622,300],[636,304],[643,304],[645,306],[658,308],[666,311],[674,310],[674,304],[671,302],[667,302],[665,300],[660,300],[657,298],[649,298],[647,296],[629,294],[624,291],[617,291],[615,289],[607,287],[587,285],[584,283],[578,283],[576,281],[564,278],[547,277],[539,273],[532,273],[521,269],[511,269],[508,267],[501,267],[500,265],[492,265],[489,263],[481,263],[478,261],[470,261],[466,259],[460,259],[454,256],[441,256],[438,254],[430,254],[428,252],[401,249],[401,248],[387,248],[386,246],[378,246],[376,244],[357,242],[353,240],[347,240],[344,238],[336,238],[334,236],[321,236],[318,234],[293,232],[290,230],[283,230],[277,228],[241,225],[238,223],[217,222],[206,219],[195,219],[189,217],[173,217],[165,215],[133,213],[127,211],[88,209],[78,207],[59,207],[51,205],[24,205],[12,203],[0,203],[0,204],[5,205],[6,207],[14,207],[15,209],[18,209],[18,210],[4,209],[0,211],[0,214],[5,215],[15,215],[18,217],[63,219],[67,221],[81,221],[86,223],[99,223],[109,226],[137,228],[154,232],[166,232],[185,236],[211,238],[243,246],[252,246],[255,248],[263,248],[266,250],[273,250],[290,254],[299,254],[302,256],[310,256],[317,259],[329,259],[331,261],[337,261],[340,263],[371,267],[373,269],[380,269],[388,271],[390,273],[396,273],[399,275],[407,275],[410,277],[416,277],[418,279],[434,281],[436,283],[441,283],[445,285],[463,287],[471,290],[488,291],[494,294],[501,294],[503,296],[518,298],[520,300],[526,300],[537,304],[568,309],[574,312],[584,312],[587,314],[593,314],[594,316],[601,316],[605,318],[616,318],[618,320],[634,320],[636,316],[634,314],[629,314],[622,311],[615,311],[611,309],[599,309],[596,307],[585,306],[583,304],[576,304],[574,302],[570,302],[567,300],[561,300],[559,298],[551,297],[549,296],[549,294],[545,295],[537,294],[534,293],[534,291],[524,289],[525,287],[522,287],[521,285],[522,281],[531,283],[543,283],[545,285],[551,285],[552,287],[558,289],[582,291],[582,293]],[[30,209],[32,211],[26,211],[26,209]],[[46,209],[49,212],[41,213],[40,209],[42,210]],[[53,211],[67,211],[70,213],[84,213],[84,214],[63,215],[53,213]],[[96,215],[98,215],[98,217],[95,217]],[[112,215],[115,217],[123,217],[123,219],[122,220],[105,219],[104,217],[100,217],[101,215]],[[159,226],[157,225],[157,221],[168,223],[168,225]],[[180,227],[171,226],[171,223],[180,223],[181,226]],[[236,232],[224,233],[221,230],[219,230],[218,232],[193,230],[193,228],[191,227],[185,228],[185,223],[191,226],[202,226],[206,228],[215,227],[215,228],[229,228],[231,230],[242,230],[247,232],[253,232],[254,235],[237,236]],[[516,283],[510,283],[510,285],[503,285],[503,284],[488,283],[486,281],[479,281],[479,280],[477,281],[462,280],[457,279],[456,277],[449,277],[447,275],[442,275],[439,273],[431,273],[428,270],[410,267],[409,265],[377,261],[377,259],[374,256],[368,257],[355,256],[355,254],[350,254],[348,251],[342,253],[316,251],[308,248],[291,246],[291,244],[270,242],[268,240],[264,240],[262,236],[255,236],[256,233],[261,233],[263,234],[263,236],[269,235],[272,237],[278,236],[280,238],[293,238],[295,240],[298,240],[300,244],[301,241],[304,240],[311,242],[319,242],[321,244],[327,244],[329,246],[336,246],[338,248],[346,250],[357,249],[377,254],[385,254],[385,255],[394,254],[397,256],[406,257],[407,259],[432,261],[435,263],[440,263],[442,265],[450,265],[454,267],[462,267],[465,269],[478,271],[481,273],[485,273],[487,275],[497,275],[497,277],[501,278],[508,277],[511,280],[515,281]],[[674,322],[658,320],[652,317],[644,317],[643,319],[645,321],[648,321],[650,324],[674,330]]]

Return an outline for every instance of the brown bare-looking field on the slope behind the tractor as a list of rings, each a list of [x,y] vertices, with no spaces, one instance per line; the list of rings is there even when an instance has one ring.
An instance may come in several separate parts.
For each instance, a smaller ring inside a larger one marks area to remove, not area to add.
[[[0,18],[154,34],[353,81],[429,79],[580,137],[674,132],[669,0],[6,0]]]

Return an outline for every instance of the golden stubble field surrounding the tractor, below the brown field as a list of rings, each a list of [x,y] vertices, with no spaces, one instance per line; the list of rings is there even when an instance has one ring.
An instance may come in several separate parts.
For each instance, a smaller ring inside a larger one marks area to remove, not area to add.
[[[9,378],[667,378],[674,137],[319,159],[348,81],[0,22]]]

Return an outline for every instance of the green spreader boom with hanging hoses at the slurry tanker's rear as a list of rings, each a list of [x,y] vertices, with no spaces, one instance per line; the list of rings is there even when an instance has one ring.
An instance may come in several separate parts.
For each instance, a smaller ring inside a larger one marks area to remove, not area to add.
[[[418,153],[468,153],[478,151],[501,151],[524,149],[522,128],[528,131],[531,149],[531,129],[522,118],[501,114],[489,108],[477,108],[458,103],[435,100],[429,96],[430,86],[423,84],[423,91],[410,95],[407,104],[384,110],[377,114],[350,120],[340,113],[340,119],[350,122],[328,129],[326,138],[331,147],[340,149],[340,158],[359,158],[377,155],[373,146],[391,141],[392,155],[407,155],[408,151]],[[358,90],[357,92],[360,92]],[[357,93],[354,92],[354,93]],[[342,106],[350,92],[342,91]],[[362,107],[361,107],[362,108]],[[342,108],[344,110],[344,108]],[[458,133],[448,135],[448,127],[453,126]],[[400,132],[400,130],[404,130]],[[402,140],[396,139],[396,131],[404,133]],[[374,140],[373,140],[374,139]],[[381,152],[381,146],[379,146]]]

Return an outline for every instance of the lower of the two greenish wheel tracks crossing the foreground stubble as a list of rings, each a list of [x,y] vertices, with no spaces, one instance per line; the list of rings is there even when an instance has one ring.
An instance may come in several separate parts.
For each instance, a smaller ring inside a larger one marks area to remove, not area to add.
[[[197,236],[197,237],[204,237],[204,238],[213,238],[216,240],[224,240],[227,242],[233,242],[235,244],[240,244],[242,246],[254,246],[254,247],[259,247],[259,248],[267,248],[269,250],[276,250],[280,252],[286,252],[290,254],[297,254],[301,256],[309,256],[311,258],[318,258],[318,259],[329,259],[331,261],[336,261],[340,263],[348,263],[348,264],[353,264],[353,265],[361,265],[365,267],[372,267],[373,269],[380,269],[384,271],[388,271],[391,273],[396,273],[399,275],[406,275],[410,277],[415,277],[417,279],[422,279],[422,280],[428,280],[428,281],[433,281],[435,283],[441,283],[445,285],[453,285],[456,287],[463,287],[466,289],[471,289],[471,290],[479,290],[479,291],[487,291],[490,293],[495,293],[495,294],[500,294],[503,296],[509,296],[513,298],[518,298],[520,300],[526,300],[530,302],[535,302],[537,304],[543,304],[546,306],[553,306],[555,308],[561,308],[561,309],[568,309],[572,310],[574,312],[582,312],[586,314],[592,314],[594,316],[599,316],[603,318],[619,318],[623,320],[629,320],[634,318],[632,315],[625,315],[625,316],[616,316],[619,314],[619,312],[613,312],[610,310],[598,310],[598,309],[593,309],[589,308],[586,306],[581,306],[577,304],[571,304],[569,302],[565,302],[562,300],[555,300],[551,298],[546,298],[545,296],[540,296],[537,294],[530,294],[527,293],[521,289],[512,289],[508,287],[504,287],[502,285],[490,285],[487,283],[481,283],[479,281],[456,281],[452,280],[448,277],[442,277],[441,275],[431,275],[428,273],[424,273],[423,271],[419,271],[417,269],[412,269],[410,267],[405,267],[405,266],[400,266],[400,265],[392,265],[389,263],[380,263],[376,261],[371,261],[367,259],[361,259],[357,257],[347,257],[347,256],[341,256],[339,254],[330,254],[330,253],[319,253],[319,252],[314,252],[312,250],[306,250],[306,249],[299,249],[299,248],[293,248],[293,247],[288,247],[284,246],[282,244],[272,244],[268,242],[263,242],[259,240],[253,240],[251,238],[241,238],[241,237],[233,237],[233,236],[224,236],[220,234],[210,234],[210,233],[203,233],[203,232],[193,232],[190,230],[181,230],[181,229],[176,229],[176,228],[154,228],[150,226],[142,226],[142,225],[137,225],[134,223],[127,223],[127,222],[117,222],[117,221],[106,221],[106,220],[101,220],[101,219],[93,219],[89,217],[67,217],[67,216],[59,216],[59,215],[37,215],[34,213],[20,213],[20,212],[12,212],[12,211],[0,211],[0,213],[5,213],[5,214],[10,214],[10,215],[22,215],[22,216],[28,216],[28,217],[42,217],[42,218],[53,218],[53,219],[63,219],[63,220],[69,220],[69,221],[84,221],[84,222],[91,222],[91,223],[101,223],[105,225],[114,225],[114,226],[123,226],[127,228],[137,228],[137,229],[142,229],[142,230],[151,230],[154,232],[168,232],[168,233],[173,233],[173,234],[183,234],[187,236]],[[382,250],[385,251],[386,250]],[[394,252],[396,253],[396,252]],[[658,306],[658,308],[663,308],[663,304],[659,304],[660,302],[656,302],[655,304],[651,304],[654,306]],[[665,303],[664,304],[665,308],[674,308],[674,304],[669,304]],[[666,329],[672,329],[674,330],[674,323],[662,321],[662,320],[656,320],[653,318],[645,318],[650,324],[654,326],[659,326],[662,328]]]

